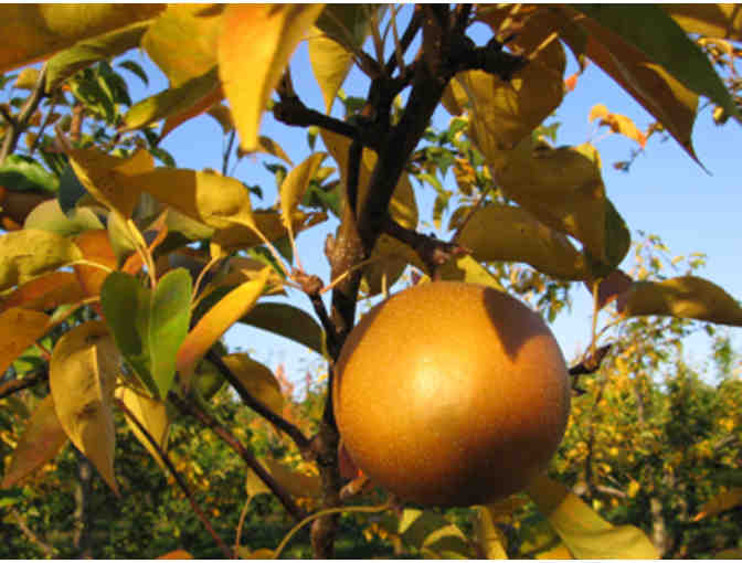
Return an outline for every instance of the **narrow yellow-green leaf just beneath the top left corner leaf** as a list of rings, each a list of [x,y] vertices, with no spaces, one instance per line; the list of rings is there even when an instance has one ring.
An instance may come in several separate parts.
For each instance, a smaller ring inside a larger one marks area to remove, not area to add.
[[[46,91],[74,75],[77,71],[97,61],[104,61],[139,45],[150,21],[138,22],[116,29],[103,35],[75,43],[49,60],[46,64]]]

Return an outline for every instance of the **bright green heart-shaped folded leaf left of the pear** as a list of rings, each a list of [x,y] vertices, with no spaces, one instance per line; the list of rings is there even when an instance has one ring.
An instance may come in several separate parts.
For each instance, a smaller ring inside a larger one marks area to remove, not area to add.
[[[156,397],[166,397],[176,378],[176,354],[190,322],[188,270],[169,272],[155,291],[128,274],[114,272],[103,284],[100,302],[126,361]]]

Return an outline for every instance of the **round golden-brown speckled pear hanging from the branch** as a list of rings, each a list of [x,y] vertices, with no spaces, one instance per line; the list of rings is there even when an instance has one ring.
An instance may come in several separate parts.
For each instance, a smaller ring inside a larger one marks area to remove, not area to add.
[[[399,498],[484,504],[523,489],[559,447],[564,357],[541,317],[485,286],[435,282],[378,305],[336,365],[356,464]]]

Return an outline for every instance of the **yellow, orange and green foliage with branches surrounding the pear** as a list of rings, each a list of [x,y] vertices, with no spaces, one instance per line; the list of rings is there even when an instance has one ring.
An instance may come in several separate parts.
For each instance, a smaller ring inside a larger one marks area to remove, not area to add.
[[[740,118],[733,7],[7,12],[0,527],[11,540],[0,553],[280,555],[306,514],[310,531],[284,555],[739,553],[742,396],[738,359],[713,326],[742,326],[742,309],[693,275],[699,256],[670,258],[656,236],[632,243],[597,148],[556,146],[560,124],[548,121],[581,86],[579,74],[564,76],[569,50],[656,119],[642,131],[596,106],[596,127],[643,151],[669,136],[697,160],[701,96],[716,123]],[[491,31],[485,45],[466,34],[475,22]],[[324,111],[292,82],[304,40]],[[137,47],[169,86],[135,100],[129,81],[149,81],[128,57]],[[351,67],[368,78],[365,96],[342,91]],[[452,115],[445,130],[430,127],[439,105]],[[304,161],[259,135],[266,110],[307,129]],[[224,131],[221,172],[177,167],[160,147],[204,113]],[[272,206],[254,208],[265,187],[230,176],[231,160],[248,153],[272,158]],[[614,166],[628,171],[636,153]],[[428,196],[430,217],[418,208]],[[331,279],[320,279],[295,240],[330,220]],[[326,389],[358,304],[428,279],[511,293],[549,320],[575,288],[594,297],[551,477],[495,506],[393,503],[359,475],[335,427]],[[286,301],[288,289],[314,316]],[[325,378],[299,397],[285,374],[227,353],[220,339],[237,322],[322,353]],[[682,339],[701,327],[716,339],[716,384],[682,355]]]

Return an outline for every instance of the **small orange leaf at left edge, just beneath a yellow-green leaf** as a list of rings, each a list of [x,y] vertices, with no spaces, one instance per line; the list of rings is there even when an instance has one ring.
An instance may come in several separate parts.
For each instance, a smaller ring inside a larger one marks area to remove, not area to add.
[[[53,272],[19,286],[0,304],[0,311],[21,307],[45,311],[85,297],[72,272]]]

